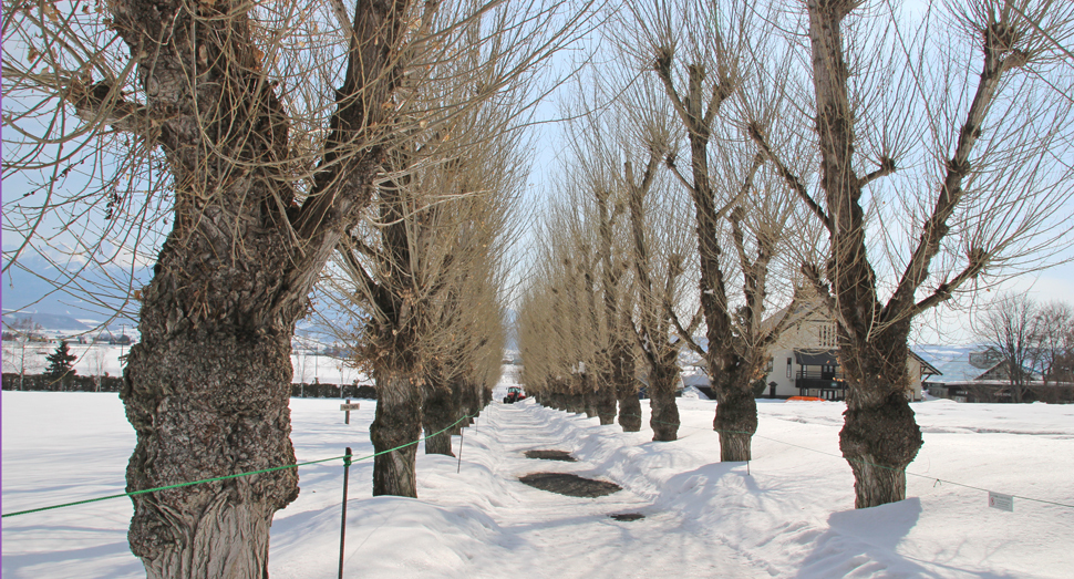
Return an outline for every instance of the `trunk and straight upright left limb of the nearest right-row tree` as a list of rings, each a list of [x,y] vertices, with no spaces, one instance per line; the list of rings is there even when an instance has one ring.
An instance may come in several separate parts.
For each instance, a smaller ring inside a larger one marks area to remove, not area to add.
[[[854,116],[840,31],[853,6],[810,0],[807,7],[820,187],[827,195],[826,226],[832,232],[827,276],[834,285],[834,306],[840,320],[839,363],[848,383],[839,448],[854,472],[855,506],[864,508],[906,498],[906,466],[922,444],[921,430],[906,396],[910,324],[906,319],[884,332],[874,331],[882,308],[866,250],[860,206],[865,180],[850,164]]]

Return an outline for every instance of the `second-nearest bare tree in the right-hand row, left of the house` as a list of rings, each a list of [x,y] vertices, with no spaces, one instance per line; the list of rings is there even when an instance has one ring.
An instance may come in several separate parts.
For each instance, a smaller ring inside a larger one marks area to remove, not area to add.
[[[753,382],[763,375],[783,324],[764,323],[771,303],[768,271],[792,211],[779,203],[782,192],[763,170],[765,156],[741,143],[736,125],[722,112],[741,90],[752,32],[746,6],[730,4],[644,4],[634,10],[632,38],[636,59],[659,79],[685,133],[689,169],[680,168],[677,148],[664,161],[694,203],[708,343],[700,347],[677,320],[678,329],[704,358],[716,391],[713,428],[720,432],[721,459],[748,461],[757,428]],[[724,261],[729,246],[734,258]],[[744,298],[739,303],[727,291],[736,273]]]

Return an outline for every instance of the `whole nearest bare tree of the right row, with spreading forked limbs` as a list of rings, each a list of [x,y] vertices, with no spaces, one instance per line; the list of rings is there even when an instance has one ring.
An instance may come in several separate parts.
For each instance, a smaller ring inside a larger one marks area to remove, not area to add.
[[[812,102],[748,133],[828,232],[823,266],[803,270],[836,314],[840,448],[864,508],[906,496],[922,444],[906,395],[911,320],[1040,266],[1070,227],[1070,165],[1056,162],[1072,143],[1070,62],[1054,43],[1072,38],[1074,7],[952,0],[916,28],[890,3],[804,8],[784,22],[801,33],[788,45],[808,38],[803,74],[766,74],[804,79],[785,94]],[[801,143],[819,155],[816,175],[792,156]]]

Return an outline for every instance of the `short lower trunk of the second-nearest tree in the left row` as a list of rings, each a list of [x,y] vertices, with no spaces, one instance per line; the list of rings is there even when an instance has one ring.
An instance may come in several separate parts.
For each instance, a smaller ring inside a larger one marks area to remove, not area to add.
[[[376,374],[376,416],[369,427],[378,453],[373,458],[373,496],[417,498],[417,444],[399,448],[416,443],[422,434],[422,393],[412,378],[401,372]]]

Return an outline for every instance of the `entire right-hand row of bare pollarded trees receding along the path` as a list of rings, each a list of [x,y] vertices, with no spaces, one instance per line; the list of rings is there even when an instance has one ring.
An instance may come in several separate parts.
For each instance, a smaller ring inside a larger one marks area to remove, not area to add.
[[[1074,7],[642,0],[607,21],[521,301],[527,387],[585,407],[632,387],[615,373],[630,358],[654,440],[674,440],[662,396],[689,348],[716,393],[721,459],[746,461],[770,349],[820,309],[856,505],[903,498],[922,444],[915,320],[1071,246]]]

